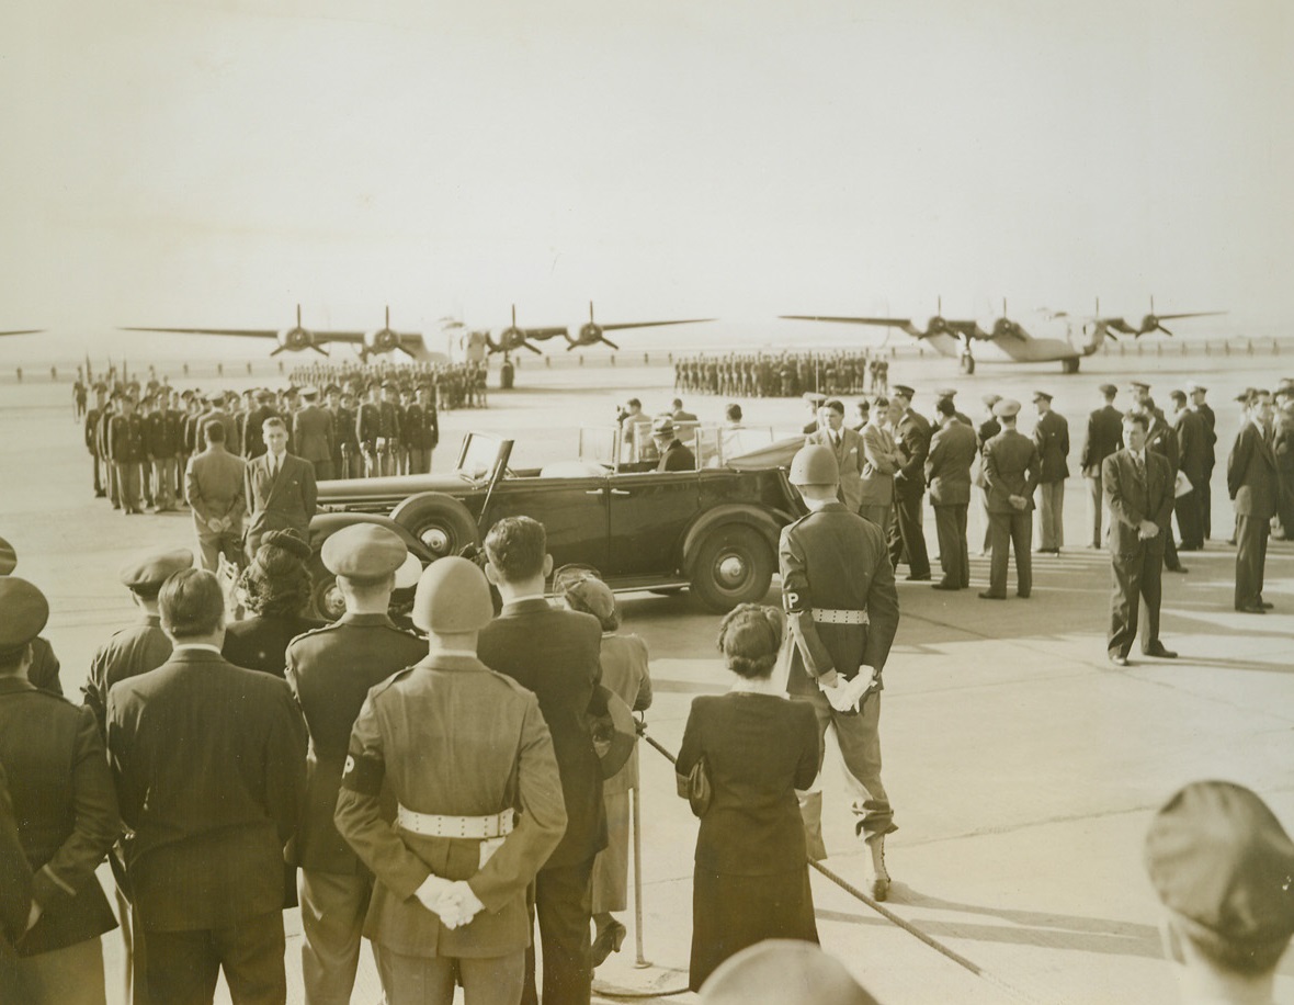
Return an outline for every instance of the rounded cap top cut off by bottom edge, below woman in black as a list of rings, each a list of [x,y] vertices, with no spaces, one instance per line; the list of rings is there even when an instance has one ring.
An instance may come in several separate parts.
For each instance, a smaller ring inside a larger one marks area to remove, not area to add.
[[[877,1005],[845,965],[813,943],[766,939],[730,956],[701,986],[705,1005]]]

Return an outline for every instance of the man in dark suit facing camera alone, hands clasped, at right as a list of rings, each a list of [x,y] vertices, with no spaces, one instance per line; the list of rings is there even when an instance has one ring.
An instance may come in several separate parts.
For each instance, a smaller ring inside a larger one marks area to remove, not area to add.
[[[1144,413],[1128,412],[1122,422],[1127,447],[1112,453],[1101,465],[1114,567],[1106,650],[1117,667],[1128,666],[1140,604],[1145,604],[1141,651],[1166,659],[1178,655],[1159,641],[1163,547],[1172,534],[1174,475],[1167,458],[1146,446],[1146,420]]]

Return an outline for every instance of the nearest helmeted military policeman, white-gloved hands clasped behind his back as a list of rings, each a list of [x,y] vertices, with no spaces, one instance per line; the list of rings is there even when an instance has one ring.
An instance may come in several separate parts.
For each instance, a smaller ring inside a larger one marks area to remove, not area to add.
[[[365,934],[389,1005],[449,1005],[455,974],[467,1001],[521,996],[527,887],[567,813],[540,699],[476,658],[492,616],[474,563],[432,562],[414,598],[428,653],[369,692],[351,737],[336,826],[377,877]]]

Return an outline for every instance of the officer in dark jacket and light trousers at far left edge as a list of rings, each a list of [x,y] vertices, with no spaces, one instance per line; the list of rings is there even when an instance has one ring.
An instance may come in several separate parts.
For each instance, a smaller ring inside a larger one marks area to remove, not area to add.
[[[27,680],[44,594],[0,578],[0,769],[34,873],[17,958],[0,956],[0,1001],[102,1005],[100,936],[116,921],[94,870],[120,830],[104,740],[88,710]]]

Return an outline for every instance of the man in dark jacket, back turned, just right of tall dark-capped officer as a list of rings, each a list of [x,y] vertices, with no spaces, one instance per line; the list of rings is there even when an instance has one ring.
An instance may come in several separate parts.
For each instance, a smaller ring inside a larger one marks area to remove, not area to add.
[[[939,399],[936,414],[939,427],[925,458],[925,480],[930,483],[943,578],[933,585],[936,589],[965,589],[970,585],[970,549],[967,544],[970,465],[978,447],[974,430],[958,418],[951,398]]]

